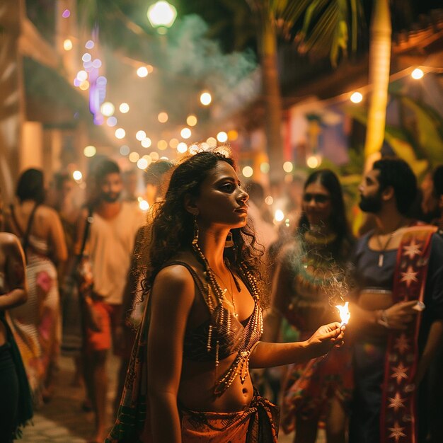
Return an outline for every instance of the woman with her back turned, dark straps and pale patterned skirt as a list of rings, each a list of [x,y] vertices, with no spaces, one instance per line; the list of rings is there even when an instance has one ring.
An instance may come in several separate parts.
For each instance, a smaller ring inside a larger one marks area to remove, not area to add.
[[[43,173],[24,171],[16,189],[18,205],[11,206],[7,231],[21,238],[26,258],[28,303],[11,311],[18,347],[30,386],[48,400],[52,395],[54,371],[60,346],[60,307],[57,270],[67,260],[62,224],[54,209],[43,204]],[[38,401],[39,398],[35,398]]]

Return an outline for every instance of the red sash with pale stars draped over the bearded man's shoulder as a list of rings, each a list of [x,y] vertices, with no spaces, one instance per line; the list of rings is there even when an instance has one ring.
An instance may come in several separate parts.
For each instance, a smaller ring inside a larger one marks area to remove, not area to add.
[[[416,226],[401,238],[394,274],[393,302],[423,301],[430,256],[430,239],[436,229]],[[384,364],[380,414],[380,442],[418,442],[416,392],[414,386],[418,367],[418,333],[421,316],[415,316],[413,326],[392,330]]]

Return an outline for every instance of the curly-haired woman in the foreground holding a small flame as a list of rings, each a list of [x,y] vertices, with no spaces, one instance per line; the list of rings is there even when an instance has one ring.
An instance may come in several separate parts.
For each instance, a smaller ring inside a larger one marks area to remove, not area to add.
[[[277,442],[275,405],[249,367],[304,361],[340,345],[340,323],[302,343],[263,343],[260,255],[234,161],[201,151],[173,171],[155,208],[146,303],[107,442]]]

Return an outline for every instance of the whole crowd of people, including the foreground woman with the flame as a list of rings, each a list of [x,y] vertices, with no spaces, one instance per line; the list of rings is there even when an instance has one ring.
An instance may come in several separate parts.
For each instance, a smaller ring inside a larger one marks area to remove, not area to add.
[[[315,443],[319,427],[328,443],[442,442],[443,166],[430,178],[418,210],[410,166],[376,161],[354,235],[333,171],[273,195],[276,224],[226,146],[151,163],[148,212],[109,159],[81,205],[68,174],[48,195],[24,171],[1,211],[0,442],[51,400],[60,352],[91,442]]]

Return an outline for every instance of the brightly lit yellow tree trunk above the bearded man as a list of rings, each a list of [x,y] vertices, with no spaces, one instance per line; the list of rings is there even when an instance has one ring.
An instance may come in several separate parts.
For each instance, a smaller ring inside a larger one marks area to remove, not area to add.
[[[386,125],[389,68],[391,64],[391,13],[389,0],[375,0],[372,11],[371,42],[369,48],[369,99],[364,169],[368,171],[381,156]]]

